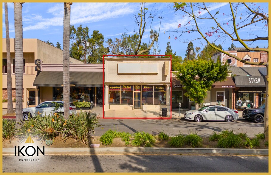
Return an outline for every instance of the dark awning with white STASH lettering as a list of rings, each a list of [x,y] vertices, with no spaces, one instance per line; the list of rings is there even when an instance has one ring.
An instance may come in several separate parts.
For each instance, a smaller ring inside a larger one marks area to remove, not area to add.
[[[263,76],[235,76],[236,87],[265,87]]]

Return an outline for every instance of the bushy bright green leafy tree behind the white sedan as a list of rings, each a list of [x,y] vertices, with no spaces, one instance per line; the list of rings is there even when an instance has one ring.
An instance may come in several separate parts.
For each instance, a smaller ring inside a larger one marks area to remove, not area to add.
[[[207,91],[214,82],[226,80],[228,64],[221,64],[220,60],[187,60],[179,67],[175,76],[182,82],[184,93],[191,101],[195,101],[196,109],[204,102]]]

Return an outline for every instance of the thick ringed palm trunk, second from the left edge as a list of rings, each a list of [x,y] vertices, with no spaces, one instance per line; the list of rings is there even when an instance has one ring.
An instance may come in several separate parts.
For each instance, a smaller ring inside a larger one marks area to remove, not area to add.
[[[23,18],[21,2],[14,2],[16,122],[23,120]],[[18,127],[18,125],[16,125]]]

